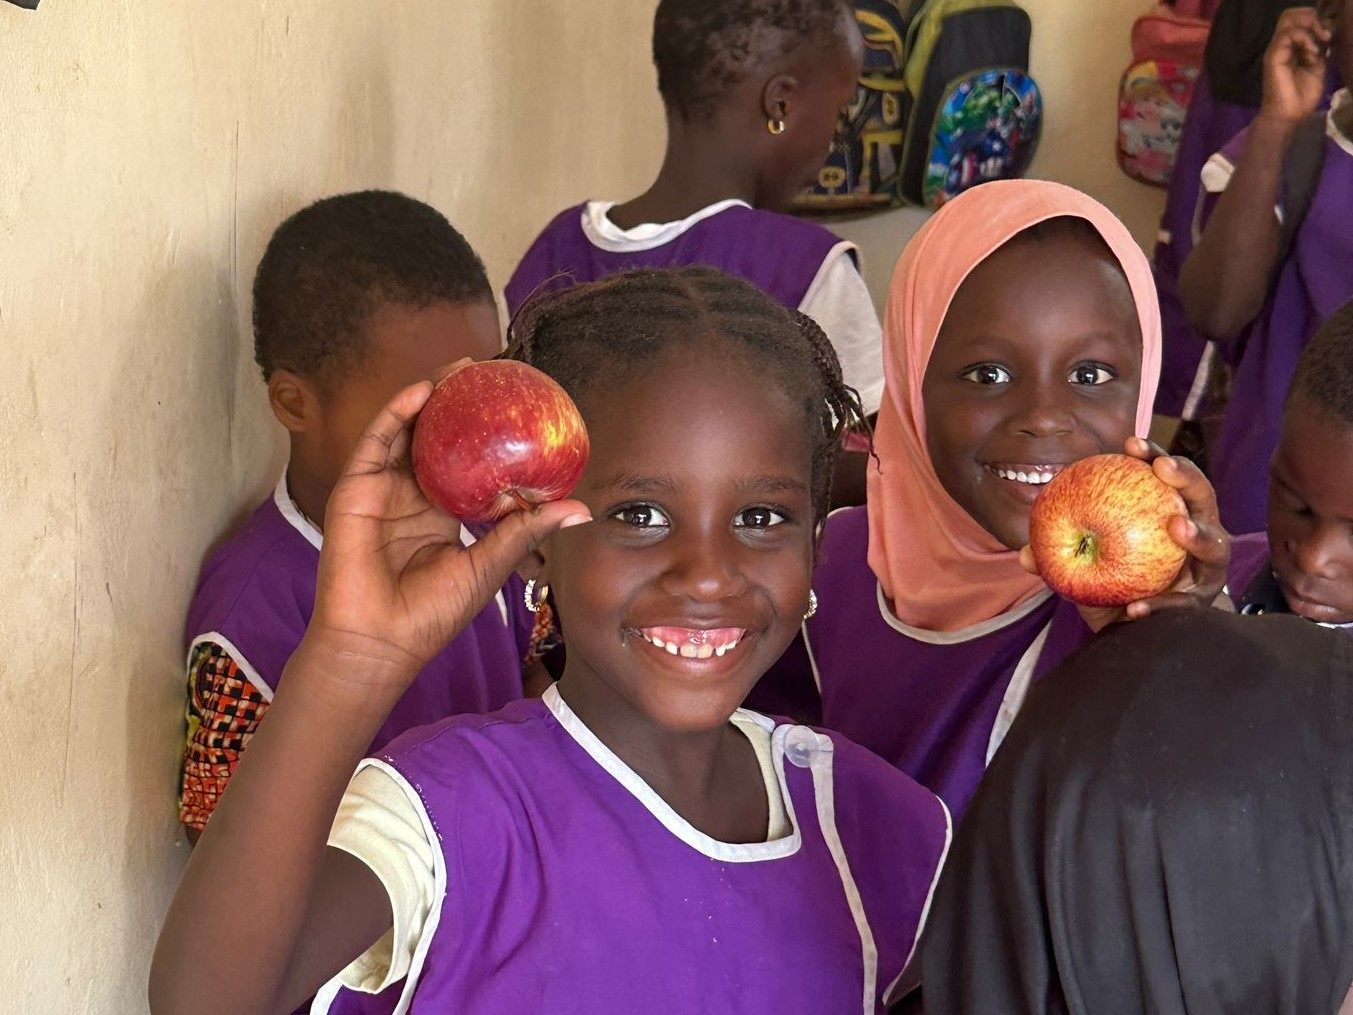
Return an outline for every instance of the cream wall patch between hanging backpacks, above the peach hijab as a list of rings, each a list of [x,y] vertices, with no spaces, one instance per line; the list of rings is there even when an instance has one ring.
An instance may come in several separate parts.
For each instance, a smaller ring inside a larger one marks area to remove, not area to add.
[[[1043,138],[1030,176],[1078,187],[1104,202],[1150,250],[1165,191],[1130,180],[1114,156],[1118,85],[1132,22],[1150,0],[1019,0],[1034,22],[1030,69],[1043,91]],[[832,222],[859,244],[865,279],[882,310],[893,265],[925,221],[919,208]]]

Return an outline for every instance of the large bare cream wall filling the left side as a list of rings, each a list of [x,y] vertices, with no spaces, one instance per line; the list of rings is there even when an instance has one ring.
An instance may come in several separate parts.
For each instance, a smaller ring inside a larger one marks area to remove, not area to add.
[[[0,1011],[145,1008],[187,855],[184,610],[280,464],[248,326],[272,227],[403,189],[501,287],[551,214],[656,168],[651,18],[0,4]]]

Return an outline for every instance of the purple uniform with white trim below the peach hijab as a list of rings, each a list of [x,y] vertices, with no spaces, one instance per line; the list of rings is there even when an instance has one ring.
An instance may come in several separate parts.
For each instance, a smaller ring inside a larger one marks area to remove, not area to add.
[[[802,686],[809,667],[823,725],[896,765],[959,817],[1032,681],[1091,629],[1051,593],[966,631],[908,627],[889,609],[867,554],[867,510],[832,513],[813,572],[817,614],[763,693]]]

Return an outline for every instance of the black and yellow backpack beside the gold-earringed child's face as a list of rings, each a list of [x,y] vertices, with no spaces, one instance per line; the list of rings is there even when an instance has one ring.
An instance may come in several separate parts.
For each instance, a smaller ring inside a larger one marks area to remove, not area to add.
[[[794,202],[800,211],[870,211],[902,203],[898,172],[911,96],[902,83],[907,28],[920,0],[856,0],[865,70],[842,114],[817,183]]]

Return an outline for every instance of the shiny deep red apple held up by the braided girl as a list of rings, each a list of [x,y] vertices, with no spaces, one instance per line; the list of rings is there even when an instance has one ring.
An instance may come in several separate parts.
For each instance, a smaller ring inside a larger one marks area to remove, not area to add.
[[[488,360],[442,378],[414,424],[414,476],[461,521],[491,522],[567,497],[587,464],[587,428],[551,378]]]

